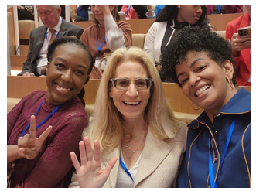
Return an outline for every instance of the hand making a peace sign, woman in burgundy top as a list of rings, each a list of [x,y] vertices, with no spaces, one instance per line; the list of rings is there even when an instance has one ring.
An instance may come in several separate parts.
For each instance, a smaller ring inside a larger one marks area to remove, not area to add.
[[[26,159],[35,159],[51,129],[52,126],[49,126],[39,138],[36,138],[36,118],[32,115],[29,128],[30,134],[18,139],[18,154]]]

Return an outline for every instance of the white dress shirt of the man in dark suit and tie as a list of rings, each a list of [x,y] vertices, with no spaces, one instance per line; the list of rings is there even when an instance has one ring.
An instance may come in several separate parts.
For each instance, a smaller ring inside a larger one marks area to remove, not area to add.
[[[61,26],[61,22],[62,22],[62,18],[60,17],[60,20],[58,22],[58,24],[56,26],[53,27],[53,29],[55,29],[55,36],[58,34],[58,32],[60,31],[60,26]],[[46,38],[47,36],[47,38]],[[43,46],[40,49],[40,52],[38,54],[38,58],[36,60],[36,70],[37,73],[41,73],[41,67],[46,66],[47,65],[47,58],[46,58],[46,54],[47,54],[47,49],[48,49],[48,44],[49,44],[49,39],[51,39],[52,33],[49,32],[49,28],[47,28],[46,30],[46,35],[44,37],[43,40]]]

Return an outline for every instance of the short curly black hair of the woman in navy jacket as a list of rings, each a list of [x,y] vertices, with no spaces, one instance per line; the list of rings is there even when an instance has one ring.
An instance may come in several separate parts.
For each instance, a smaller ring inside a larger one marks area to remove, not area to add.
[[[181,87],[175,68],[176,64],[180,64],[187,59],[186,55],[189,51],[207,53],[207,56],[220,66],[225,60],[230,60],[234,67],[229,43],[220,37],[217,32],[212,32],[210,26],[204,26],[203,28],[186,26],[176,33],[176,36],[166,46],[160,57],[162,81],[170,82],[174,80]],[[232,82],[237,86],[235,74],[233,74]]]

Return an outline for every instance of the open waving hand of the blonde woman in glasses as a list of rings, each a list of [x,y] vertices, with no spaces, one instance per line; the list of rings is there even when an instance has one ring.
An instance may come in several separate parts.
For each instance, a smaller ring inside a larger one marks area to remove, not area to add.
[[[77,171],[77,180],[80,188],[101,188],[107,181],[109,173],[118,159],[116,157],[112,158],[106,168],[101,169],[100,144],[97,140],[94,141],[93,152],[88,137],[84,138],[84,142],[79,142],[79,151],[81,165],[74,152],[70,152],[70,156]]]

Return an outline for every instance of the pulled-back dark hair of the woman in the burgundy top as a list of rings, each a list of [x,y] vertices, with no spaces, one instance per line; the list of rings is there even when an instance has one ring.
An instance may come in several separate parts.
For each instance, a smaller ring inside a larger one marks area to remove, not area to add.
[[[84,49],[84,52],[87,54],[89,61],[90,61],[90,67],[88,68],[88,71],[87,71],[87,75],[89,75],[94,66],[93,57],[91,56],[90,51],[87,48],[87,46],[85,46],[84,43],[82,41],[80,41],[80,39],[77,39],[75,36],[63,36],[63,37],[53,40],[53,43],[50,44],[50,46],[48,48],[48,53],[47,53],[47,60],[49,61],[49,63],[53,60],[53,55],[54,55],[56,49],[58,49],[58,46],[66,44],[66,43],[69,43],[70,45],[77,46],[81,49]],[[88,80],[89,80],[89,77],[87,78],[87,80],[85,81],[84,84],[87,84]],[[80,93],[77,94],[77,96],[80,98],[80,100],[82,101],[82,104],[85,106],[84,93],[85,93],[85,91],[84,91],[84,87],[83,87],[82,90],[80,90]]]

